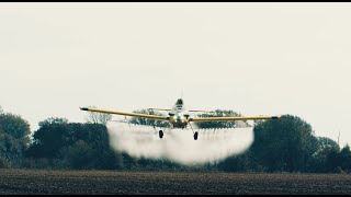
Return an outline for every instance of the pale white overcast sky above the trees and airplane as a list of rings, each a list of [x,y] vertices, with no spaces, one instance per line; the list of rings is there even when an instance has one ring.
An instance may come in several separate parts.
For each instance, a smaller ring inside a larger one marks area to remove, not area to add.
[[[299,116],[351,144],[351,3],[0,3],[0,105]]]

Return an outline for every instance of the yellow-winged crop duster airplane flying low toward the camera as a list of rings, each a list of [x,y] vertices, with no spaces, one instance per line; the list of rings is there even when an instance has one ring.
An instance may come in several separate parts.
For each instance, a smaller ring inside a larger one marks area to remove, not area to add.
[[[116,114],[124,116],[136,116],[141,118],[151,118],[151,119],[161,119],[167,120],[172,124],[173,128],[186,128],[188,124],[191,126],[190,121],[234,121],[234,120],[254,120],[254,119],[279,119],[280,116],[252,116],[252,117],[190,117],[190,113],[195,112],[206,112],[206,111],[188,111],[184,107],[184,103],[182,99],[177,100],[176,105],[172,109],[165,108],[148,108],[156,111],[167,111],[168,116],[156,116],[156,115],[147,115],[147,114],[136,114],[136,113],[124,113],[124,112],[114,112],[114,111],[104,111],[98,108],[88,108],[80,107],[81,111],[97,112],[97,113],[105,113],[105,114]],[[159,137],[163,137],[163,131],[159,130]],[[194,140],[197,140],[199,132],[194,132]]]

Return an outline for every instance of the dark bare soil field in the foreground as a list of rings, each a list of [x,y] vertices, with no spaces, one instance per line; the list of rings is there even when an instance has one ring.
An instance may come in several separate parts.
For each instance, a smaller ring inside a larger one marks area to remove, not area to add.
[[[12,194],[350,195],[351,175],[0,169],[0,195]]]

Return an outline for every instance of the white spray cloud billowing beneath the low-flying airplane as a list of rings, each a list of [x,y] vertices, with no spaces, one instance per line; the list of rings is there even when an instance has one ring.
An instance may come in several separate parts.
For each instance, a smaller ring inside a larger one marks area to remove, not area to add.
[[[181,164],[203,164],[244,153],[253,142],[253,129],[201,129],[197,140],[191,129],[166,129],[162,139],[150,126],[109,123],[113,149],[136,158],[168,159]]]

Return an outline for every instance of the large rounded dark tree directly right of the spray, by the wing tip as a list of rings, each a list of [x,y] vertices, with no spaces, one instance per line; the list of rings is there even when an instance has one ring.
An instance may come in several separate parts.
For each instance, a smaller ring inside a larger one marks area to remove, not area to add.
[[[251,147],[256,161],[268,171],[308,171],[308,162],[318,149],[309,124],[297,116],[284,115],[279,120],[259,121]]]

